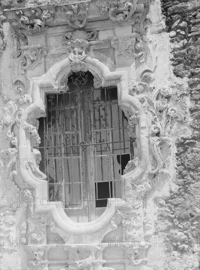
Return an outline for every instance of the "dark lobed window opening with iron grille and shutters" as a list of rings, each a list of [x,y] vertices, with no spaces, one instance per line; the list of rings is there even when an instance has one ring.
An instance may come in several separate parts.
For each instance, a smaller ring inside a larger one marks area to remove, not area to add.
[[[49,199],[63,201],[69,215],[76,208],[81,221],[94,220],[107,198],[122,197],[121,176],[133,159],[117,88],[93,84],[93,75],[80,71],[60,83],[62,92],[47,93],[39,130]]]

